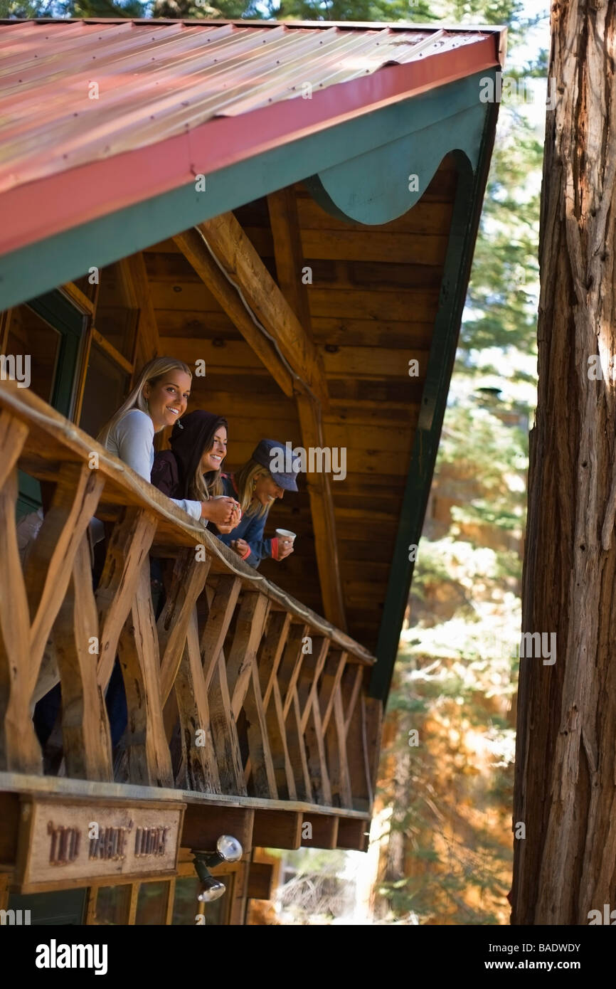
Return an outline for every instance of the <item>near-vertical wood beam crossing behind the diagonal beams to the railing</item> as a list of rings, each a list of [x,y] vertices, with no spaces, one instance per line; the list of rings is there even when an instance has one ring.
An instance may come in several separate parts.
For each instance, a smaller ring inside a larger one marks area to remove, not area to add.
[[[270,222],[274,236],[276,272],[280,289],[297,314],[305,335],[312,341],[308,291],[302,282],[304,259],[298,220],[298,206],[293,188],[281,189],[268,196]],[[313,344],[312,344],[313,347]],[[322,448],[323,423],[321,407],[308,393],[298,395],[298,413],[302,440],[306,449]],[[336,522],[328,474],[308,474],[308,494],[314,529],[316,567],[327,619],[346,631],[344,595],[338,560]]]

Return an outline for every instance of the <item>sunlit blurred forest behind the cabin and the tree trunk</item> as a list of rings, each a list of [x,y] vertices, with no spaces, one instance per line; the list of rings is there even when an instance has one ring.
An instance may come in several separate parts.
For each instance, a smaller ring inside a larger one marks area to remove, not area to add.
[[[380,769],[381,923],[506,924],[528,429],[536,395],[547,0],[0,0],[0,17],[276,18],[506,25],[505,87]],[[522,836],[518,835],[518,839]],[[289,864],[289,862],[288,862]],[[335,922],[344,870],[288,923]]]

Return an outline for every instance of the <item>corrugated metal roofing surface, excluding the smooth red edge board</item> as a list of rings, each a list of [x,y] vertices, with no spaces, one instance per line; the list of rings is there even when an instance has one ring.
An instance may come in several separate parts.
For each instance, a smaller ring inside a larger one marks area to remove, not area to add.
[[[214,118],[306,99],[385,66],[478,45],[492,32],[221,21],[4,23],[0,191]]]

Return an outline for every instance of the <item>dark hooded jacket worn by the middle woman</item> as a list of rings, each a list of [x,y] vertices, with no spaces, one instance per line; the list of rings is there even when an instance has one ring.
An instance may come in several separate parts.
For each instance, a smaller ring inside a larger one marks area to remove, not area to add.
[[[171,449],[154,457],[151,483],[162,494],[175,498],[192,498],[191,482],[199,466],[206,440],[215,425],[226,426],[226,420],[202,408],[184,415],[173,427]]]

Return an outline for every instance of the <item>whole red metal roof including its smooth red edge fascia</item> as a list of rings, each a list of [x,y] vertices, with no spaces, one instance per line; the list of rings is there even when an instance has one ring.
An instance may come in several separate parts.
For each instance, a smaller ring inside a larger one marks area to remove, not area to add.
[[[320,22],[1,23],[0,253],[497,65],[500,34]]]

